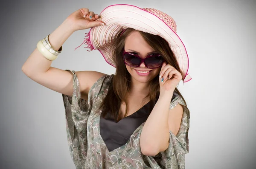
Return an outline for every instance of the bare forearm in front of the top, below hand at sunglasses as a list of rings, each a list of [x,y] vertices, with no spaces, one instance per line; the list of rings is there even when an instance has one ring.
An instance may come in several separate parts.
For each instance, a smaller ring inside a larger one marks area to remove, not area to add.
[[[161,95],[146,120],[140,136],[142,152],[155,155],[169,145],[168,115],[172,95]]]

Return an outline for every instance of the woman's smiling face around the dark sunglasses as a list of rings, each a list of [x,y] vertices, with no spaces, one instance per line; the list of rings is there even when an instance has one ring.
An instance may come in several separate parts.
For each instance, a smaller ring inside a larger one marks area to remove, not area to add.
[[[133,31],[131,34],[125,39],[125,51],[137,54],[140,58],[145,58],[149,54],[156,53],[153,48],[143,39],[138,31]],[[160,68],[149,69],[145,67],[144,62],[138,68],[132,68],[126,65],[128,72],[131,74],[132,82],[141,82],[146,83],[150,82],[154,77],[159,76]],[[140,73],[138,71],[144,71],[148,73]]]

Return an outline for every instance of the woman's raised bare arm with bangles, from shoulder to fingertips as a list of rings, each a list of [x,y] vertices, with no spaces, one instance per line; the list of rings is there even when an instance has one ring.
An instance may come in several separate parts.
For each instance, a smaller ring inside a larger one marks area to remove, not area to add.
[[[73,12],[49,35],[49,43],[53,49],[58,51],[73,32],[102,24],[102,21],[95,21],[98,17],[88,8]],[[33,81],[51,90],[72,96],[73,74],[66,70],[53,68],[51,64],[52,61],[44,57],[38,48],[35,48],[22,66],[22,71]],[[79,71],[76,75],[81,87],[81,96],[86,97],[90,87],[104,74],[96,71]]]

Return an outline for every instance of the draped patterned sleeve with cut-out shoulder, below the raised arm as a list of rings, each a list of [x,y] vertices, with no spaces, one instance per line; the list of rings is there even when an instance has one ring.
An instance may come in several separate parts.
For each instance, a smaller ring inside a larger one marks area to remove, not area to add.
[[[87,158],[87,119],[102,82],[109,75],[103,75],[94,83],[88,93],[88,100],[85,100],[81,99],[79,81],[75,71],[67,71],[73,73],[73,96],[62,94],[66,114],[67,141],[76,168],[83,168]]]

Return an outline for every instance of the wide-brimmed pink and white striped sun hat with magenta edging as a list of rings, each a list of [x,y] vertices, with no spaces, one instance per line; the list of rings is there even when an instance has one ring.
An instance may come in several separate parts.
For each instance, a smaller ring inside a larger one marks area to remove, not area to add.
[[[116,67],[111,54],[113,38],[126,28],[134,28],[135,30],[159,35],[166,39],[182,71],[183,82],[189,82],[192,79],[188,73],[189,57],[186,48],[176,34],[175,20],[169,15],[154,8],[139,8],[133,5],[116,4],[105,8],[99,14],[97,20],[101,20],[106,25],[92,27],[86,33],[85,40],[81,45],[85,44],[84,48],[90,48],[90,51],[99,50],[105,60],[113,67]],[[152,27],[152,25],[154,26]]]

